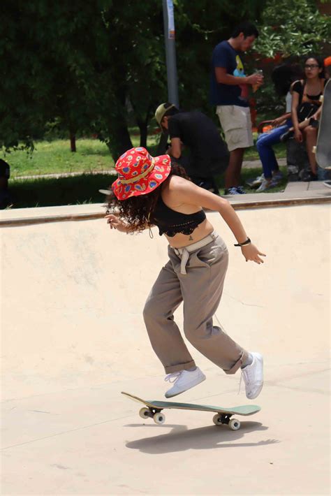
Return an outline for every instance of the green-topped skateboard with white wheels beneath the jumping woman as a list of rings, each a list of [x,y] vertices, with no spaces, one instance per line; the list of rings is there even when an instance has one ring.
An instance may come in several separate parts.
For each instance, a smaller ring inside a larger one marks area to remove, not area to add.
[[[260,411],[260,407],[257,404],[243,404],[240,407],[233,408],[223,408],[223,407],[212,407],[208,404],[191,404],[191,403],[175,403],[170,401],[154,401],[154,400],[142,400],[142,398],[131,395],[129,393],[124,393],[131,400],[138,403],[145,404],[145,408],[140,409],[139,415],[141,418],[153,418],[154,422],[157,424],[162,424],[165,422],[165,415],[161,411],[165,408],[170,409],[180,409],[180,410],[196,410],[196,411],[214,411],[216,415],[213,417],[213,422],[215,425],[226,424],[232,430],[240,429],[240,421],[237,418],[231,418],[233,415],[253,415],[257,411]]]

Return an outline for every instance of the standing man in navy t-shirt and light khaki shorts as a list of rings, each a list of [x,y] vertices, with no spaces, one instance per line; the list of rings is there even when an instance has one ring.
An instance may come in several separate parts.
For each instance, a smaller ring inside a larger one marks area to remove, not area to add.
[[[256,89],[263,84],[263,75],[244,75],[240,52],[246,52],[258,37],[258,30],[251,22],[242,22],[228,41],[222,41],[212,53],[212,104],[216,105],[230,161],[226,170],[226,194],[242,194],[240,172],[244,149],[253,145],[251,115],[247,85]]]

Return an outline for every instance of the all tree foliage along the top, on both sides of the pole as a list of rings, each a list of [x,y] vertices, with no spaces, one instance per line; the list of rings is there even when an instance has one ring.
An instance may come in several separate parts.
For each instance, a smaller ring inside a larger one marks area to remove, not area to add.
[[[309,0],[174,4],[179,100],[210,114],[212,49],[238,22],[262,19],[258,50],[268,56],[302,54],[330,29]],[[114,158],[131,146],[129,123],[146,145],[168,100],[161,0],[2,0],[0,9],[0,146],[33,147],[47,123],[95,133]]]

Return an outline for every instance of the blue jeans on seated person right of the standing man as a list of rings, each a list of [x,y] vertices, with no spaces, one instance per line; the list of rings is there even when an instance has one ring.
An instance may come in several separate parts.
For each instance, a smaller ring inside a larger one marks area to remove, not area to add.
[[[258,137],[256,147],[258,149],[260,161],[262,162],[263,174],[267,179],[271,179],[273,170],[279,169],[272,147],[273,145],[280,143],[281,135],[286,133],[292,125],[292,121],[288,119],[284,126],[276,127],[269,133],[263,133]]]

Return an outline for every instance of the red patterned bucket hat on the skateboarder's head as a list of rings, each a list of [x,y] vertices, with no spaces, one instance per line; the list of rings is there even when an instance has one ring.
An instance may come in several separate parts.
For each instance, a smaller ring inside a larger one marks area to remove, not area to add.
[[[169,155],[153,157],[145,148],[131,148],[119,157],[115,169],[118,178],[112,191],[119,200],[126,200],[156,189],[170,174],[171,160]]]

